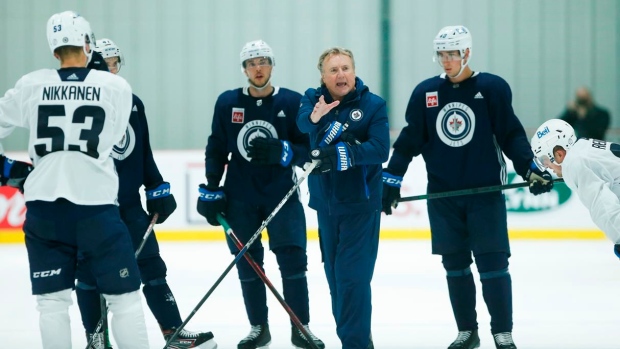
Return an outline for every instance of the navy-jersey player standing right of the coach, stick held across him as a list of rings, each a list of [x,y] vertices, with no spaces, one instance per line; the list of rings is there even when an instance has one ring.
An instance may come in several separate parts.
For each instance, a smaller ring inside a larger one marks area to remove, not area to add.
[[[383,172],[383,210],[392,213],[400,183],[414,156],[422,155],[428,192],[478,188],[506,182],[502,152],[530,182],[530,192],[553,187],[551,175],[534,164],[534,154],[512,109],[512,93],[502,78],[470,68],[472,38],[463,26],[445,27],[433,41],[444,73],[421,82],[411,94],[407,126],[394,143]],[[415,169],[414,169],[415,170]],[[503,193],[487,193],[427,202],[432,252],[442,256],[450,302],[459,334],[450,349],[480,345],[472,253],[491,315],[495,346],[516,348],[512,339],[510,247]]]

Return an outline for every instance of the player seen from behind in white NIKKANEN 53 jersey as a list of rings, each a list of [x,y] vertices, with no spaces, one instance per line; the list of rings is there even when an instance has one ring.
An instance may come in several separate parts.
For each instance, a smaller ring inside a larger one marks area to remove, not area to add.
[[[78,14],[47,22],[60,69],[23,76],[0,99],[0,138],[30,129],[34,170],[24,186],[24,232],[43,348],[71,348],[68,308],[76,258],[85,256],[113,314],[121,348],[148,348],[140,274],[116,196],[112,147],[125,134],[132,107],[129,84],[86,69],[94,36]]]

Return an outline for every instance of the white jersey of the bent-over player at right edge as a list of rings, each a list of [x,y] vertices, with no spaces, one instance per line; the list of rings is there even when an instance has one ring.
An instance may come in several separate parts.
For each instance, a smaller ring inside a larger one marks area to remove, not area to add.
[[[620,144],[579,139],[566,152],[562,176],[590,211],[592,221],[620,244]]]

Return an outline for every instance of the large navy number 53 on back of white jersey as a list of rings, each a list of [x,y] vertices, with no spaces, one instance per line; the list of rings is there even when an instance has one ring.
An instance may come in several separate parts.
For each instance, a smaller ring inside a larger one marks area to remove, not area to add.
[[[88,156],[99,158],[97,146],[99,146],[99,134],[103,130],[105,121],[105,110],[95,105],[85,105],[78,107],[73,112],[74,124],[84,124],[87,117],[91,117],[93,122],[89,129],[80,132],[80,140],[86,141],[86,151],[82,151],[79,144],[67,144],[65,147],[65,133],[58,126],[50,126],[50,118],[66,116],[64,105],[40,105],[37,122],[37,138],[50,138],[51,150],[47,150],[46,144],[36,144],[34,149],[37,155],[43,157],[49,153],[60,150],[81,151]]]

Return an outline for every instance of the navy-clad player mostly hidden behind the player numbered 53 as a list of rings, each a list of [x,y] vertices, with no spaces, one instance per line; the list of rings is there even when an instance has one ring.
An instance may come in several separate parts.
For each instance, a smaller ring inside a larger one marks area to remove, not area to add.
[[[93,69],[105,68],[118,74],[125,64],[121,50],[110,39],[97,40],[95,54],[103,64],[89,64]],[[92,63],[92,62],[91,62]],[[176,209],[176,201],[170,193],[170,184],[164,182],[153,159],[144,104],[133,95],[133,107],[124,137],[114,146],[112,157],[119,177],[118,203],[122,221],[127,225],[134,250],[137,249],[149,226],[153,214],[158,213],[156,223],[163,223]],[[148,214],[142,208],[140,189],[144,186]],[[92,336],[101,317],[99,292],[86,265],[78,268],[76,284],[77,301],[87,336]],[[166,281],[166,264],[159,253],[154,233],[150,234],[138,256],[138,267],[144,287],[142,292],[151,312],[167,340],[183,321],[176,299]],[[93,348],[110,348],[106,333],[96,334]],[[170,343],[175,348],[213,349],[217,345],[211,332],[181,330]]]

